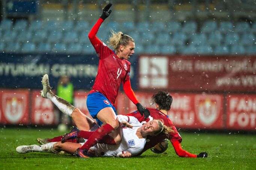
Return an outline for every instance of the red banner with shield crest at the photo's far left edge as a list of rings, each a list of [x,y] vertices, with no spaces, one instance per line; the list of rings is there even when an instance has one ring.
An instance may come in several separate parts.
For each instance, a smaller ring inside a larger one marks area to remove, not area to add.
[[[0,124],[29,124],[29,91],[0,91]]]

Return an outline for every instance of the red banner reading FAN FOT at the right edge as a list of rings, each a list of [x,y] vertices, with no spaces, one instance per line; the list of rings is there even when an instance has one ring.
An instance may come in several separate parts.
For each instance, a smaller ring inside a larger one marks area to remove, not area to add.
[[[256,95],[227,96],[227,129],[256,130]]]

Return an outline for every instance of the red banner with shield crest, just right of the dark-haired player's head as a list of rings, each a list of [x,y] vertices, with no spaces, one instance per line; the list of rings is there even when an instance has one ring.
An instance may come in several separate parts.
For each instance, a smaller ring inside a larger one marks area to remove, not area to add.
[[[169,117],[177,128],[223,129],[223,95],[172,94]]]

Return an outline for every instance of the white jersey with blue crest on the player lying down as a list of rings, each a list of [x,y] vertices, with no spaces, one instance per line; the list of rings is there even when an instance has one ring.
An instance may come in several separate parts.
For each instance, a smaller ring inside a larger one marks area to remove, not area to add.
[[[137,129],[139,129],[142,124],[135,117],[117,115],[119,122],[122,120],[127,121],[133,125],[133,129],[122,126],[122,140],[119,145],[108,145],[97,143],[92,146],[90,150],[95,152],[95,157],[105,157],[105,156],[119,156],[126,151],[130,152],[132,156],[139,154],[146,143],[146,138],[139,139],[136,135]]]

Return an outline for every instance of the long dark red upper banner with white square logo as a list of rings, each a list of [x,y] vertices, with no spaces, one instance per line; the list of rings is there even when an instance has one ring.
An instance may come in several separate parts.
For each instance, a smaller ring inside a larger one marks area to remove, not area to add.
[[[142,55],[139,88],[254,92],[256,56]]]

